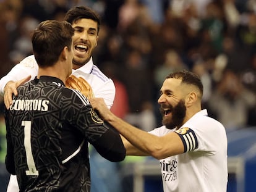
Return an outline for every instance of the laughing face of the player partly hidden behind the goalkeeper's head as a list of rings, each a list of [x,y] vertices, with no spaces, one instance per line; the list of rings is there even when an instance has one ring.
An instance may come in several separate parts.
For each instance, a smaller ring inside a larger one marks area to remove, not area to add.
[[[90,61],[98,41],[98,25],[92,19],[79,19],[72,27],[75,29],[73,69],[78,69]]]

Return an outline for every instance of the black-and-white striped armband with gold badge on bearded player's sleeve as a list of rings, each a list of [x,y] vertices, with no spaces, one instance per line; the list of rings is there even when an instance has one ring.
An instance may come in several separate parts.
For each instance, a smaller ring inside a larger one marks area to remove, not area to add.
[[[192,129],[182,127],[176,130],[175,133],[179,135],[184,144],[184,152],[194,151],[198,147],[197,136]]]

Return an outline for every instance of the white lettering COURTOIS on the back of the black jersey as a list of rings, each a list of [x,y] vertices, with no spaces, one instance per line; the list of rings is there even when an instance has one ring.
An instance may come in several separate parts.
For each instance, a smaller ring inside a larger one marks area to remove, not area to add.
[[[12,100],[10,111],[48,111],[49,100],[17,99]]]

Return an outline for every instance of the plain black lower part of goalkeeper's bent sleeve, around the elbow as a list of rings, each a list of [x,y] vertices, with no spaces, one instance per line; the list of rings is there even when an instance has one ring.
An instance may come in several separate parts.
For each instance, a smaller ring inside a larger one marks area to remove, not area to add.
[[[92,145],[105,159],[112,162],[123,161],[126,157],[126,148],[124,148],[121,136],[113,128],[110,128],[110,125],[106,126],[109,127],[108,131],[93,142]]]

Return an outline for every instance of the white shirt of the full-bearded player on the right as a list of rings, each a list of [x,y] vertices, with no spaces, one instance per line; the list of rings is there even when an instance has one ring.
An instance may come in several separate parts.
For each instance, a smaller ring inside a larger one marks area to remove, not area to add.
[[[163,136],[171,131],[162,126],[150,133]],[[160,160],[164,192],[226,192],[228,141],[223,125],[204,109],[176,132],[189,138],[182,140],[188,152]]]

